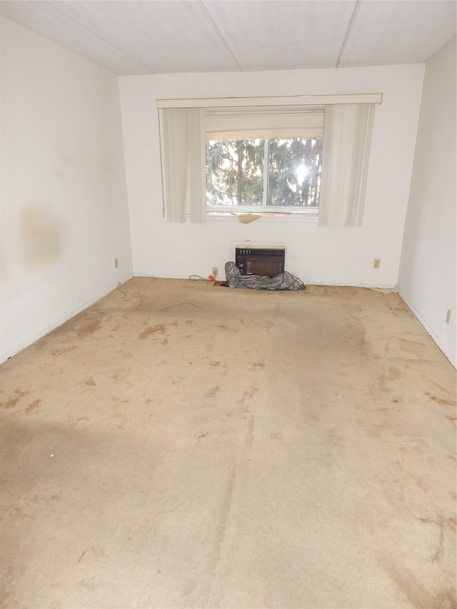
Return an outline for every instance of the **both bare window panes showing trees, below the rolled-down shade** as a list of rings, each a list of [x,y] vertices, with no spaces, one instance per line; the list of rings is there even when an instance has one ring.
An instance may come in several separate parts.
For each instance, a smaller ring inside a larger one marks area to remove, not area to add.
[[[322,144],[321,137],[207,141],[208,209],[316,212]]]

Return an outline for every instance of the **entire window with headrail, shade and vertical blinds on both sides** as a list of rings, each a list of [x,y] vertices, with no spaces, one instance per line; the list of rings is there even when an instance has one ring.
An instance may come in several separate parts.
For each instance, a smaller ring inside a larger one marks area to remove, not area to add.
[[[256,208],[318,211],[318,226],[362,226],[381,101],[382,94],[157,100],[164,217],[201,223],[218,209]]]

